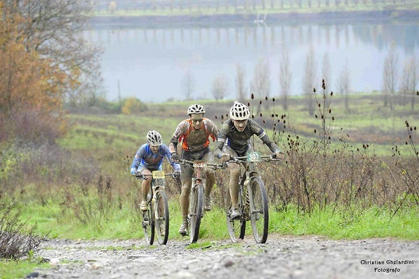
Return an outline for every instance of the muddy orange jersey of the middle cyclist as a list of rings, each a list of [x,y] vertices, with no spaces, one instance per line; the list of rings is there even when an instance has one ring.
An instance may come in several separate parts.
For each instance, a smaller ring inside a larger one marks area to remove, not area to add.
[[[191,119],[185,119],[179,123],[170,140],[170,151],[176,151],[177,142],[182,142],[184,151],[203,150],[210,145],[210,137],[215,141],[218,133],[218,128],[210,119],[204,118],[199,130],[193,128]]]

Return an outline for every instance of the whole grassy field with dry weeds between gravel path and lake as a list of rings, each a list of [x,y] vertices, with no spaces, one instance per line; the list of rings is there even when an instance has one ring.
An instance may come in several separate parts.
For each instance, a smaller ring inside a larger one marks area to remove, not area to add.
[[[98,110],[68,114],[70,128],[59,146],[3,153],[13,167],[1,173],[6,178],[1,201],[15,204],[22,220],[36,224],[35,232],[41,236],[138,239],[145,246],[138,211],[140,187],[128,170],[147,130],[159,130],[168,144],[191,103],[196,101],[147,104],[138,115]],[[198,103],[221,127],[233,100]],[[325,96],[314,115],[307,112],[302,97],[291,98],[287,110],[279,100],[249,103],[254,119],[287,153],[284,163],[260,166],[270,200],[270,234],[419,239],[419,157],[414,153],[419,139],[413,129],[419,108],[398,103],[390,111],[378,94],[353,95],[347,108],[344,97]],[[270,153],[259,140],[255,143],[256,149]],[[170,171],[167,163],[164,167]],[[8,172],[13,179],[7,179]],[[228,239],[223,211],[226,181],[226,171],[217,170],[214,209],[205,214],[199,241]],[[169,241],[175,241],[182,237],[177,232],[182,222],[179,183],[167,179],[166,193]],[[249,225],[246,237],[253,237]],[[0,273],[17,278],[40,265],[39,259],[1,261]]]

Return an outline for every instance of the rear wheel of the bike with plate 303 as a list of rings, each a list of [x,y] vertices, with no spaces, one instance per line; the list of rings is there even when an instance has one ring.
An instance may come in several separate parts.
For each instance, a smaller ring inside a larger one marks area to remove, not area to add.
[[[230,218],[232,207],[233,207],[233,203],[231,202],[231,196],[230,196],[230,193],[227,192],[226,194],[227,229],[228,229],[228,235],[230,236],[231,241],[235,243],[239,239],[244,239],[244,234],[246,232],[246,220],[243,218],[243,216],[241,218],[232,220]],[[243,213],[242,190],[240,188],[239,188],[238,207],[240,211]]]

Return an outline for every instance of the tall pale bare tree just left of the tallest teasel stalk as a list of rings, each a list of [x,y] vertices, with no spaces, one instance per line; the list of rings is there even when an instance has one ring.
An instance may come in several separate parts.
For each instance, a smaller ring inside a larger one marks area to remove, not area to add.
[[[304,80],[302,88],[307,101],[307,110],[310,115],[314,114],[314,100],[313,100],[313,89],[316,81],[316,60],[314,56],[314,48],[310,47],[309,52],[306,56],[306,62],[304,66]]]

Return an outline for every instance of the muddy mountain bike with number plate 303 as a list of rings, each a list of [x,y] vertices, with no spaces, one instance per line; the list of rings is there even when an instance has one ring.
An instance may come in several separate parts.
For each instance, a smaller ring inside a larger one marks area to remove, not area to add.
[[[255,163],[279,160],[272,156],[261,156],[258,152],[249,152],[247,156],[234,157],[228,163],[241,164],[239,176],[238,209],[242,213],[240,218],[230,218],[233,203],[230,193],[226,195],[227,229],[233,243],[244,239],[246,222],[250,220],[251,229],[256,243],[266,243],[269,225],[269,209],[265,184],[260,179]]]

